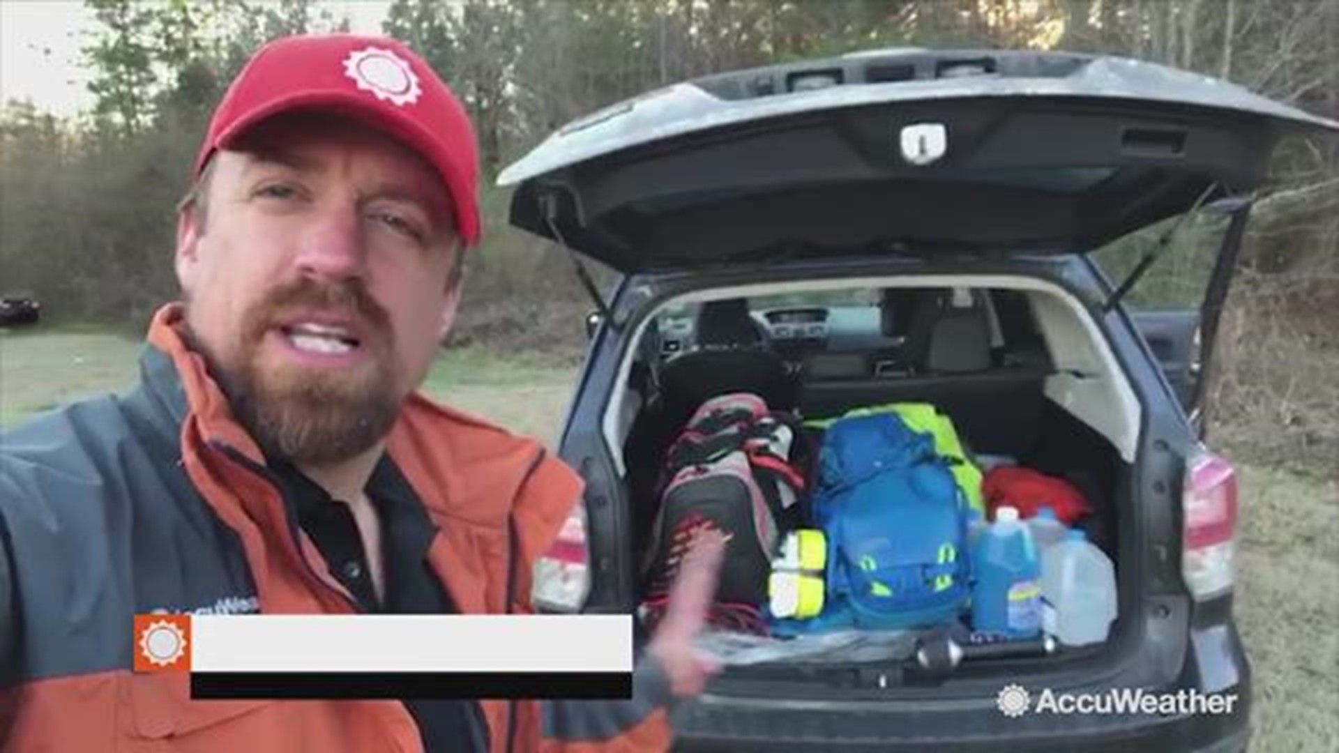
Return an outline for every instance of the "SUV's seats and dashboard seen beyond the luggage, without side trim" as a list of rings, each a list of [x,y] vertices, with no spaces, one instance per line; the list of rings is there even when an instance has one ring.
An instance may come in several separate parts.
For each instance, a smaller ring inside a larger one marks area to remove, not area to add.
[[[712,300],[688,314],[687,327],[656,320],[660,358],[647,366],[659,371],[664,422],[743,390],[805,417],[931,402],[986,445],[1030,445],[1019,429],[1038,413],[1052,366],[1023,293],[889,288],[872,303],[770,303]]]

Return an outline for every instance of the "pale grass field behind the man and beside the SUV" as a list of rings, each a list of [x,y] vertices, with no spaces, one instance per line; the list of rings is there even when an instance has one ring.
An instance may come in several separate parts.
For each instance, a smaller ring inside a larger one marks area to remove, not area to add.
[[[135,340],[96,331],[0,330],[0,425],[135,378]],[[570,360],[443,354],[426,390],[546,441],[557,437],[576,375]],[[1237,620],[1255,666],[1252,750],[1335,750],[1339,740],[1339,480],[1239,460]]]

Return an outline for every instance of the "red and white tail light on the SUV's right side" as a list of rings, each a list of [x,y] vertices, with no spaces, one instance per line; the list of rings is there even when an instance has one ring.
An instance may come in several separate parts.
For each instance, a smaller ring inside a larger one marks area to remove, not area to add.
[[[1218,456],[1193,457],[1182,497],[1181,573],[1196,600],[1232,591],[1236,579],[1237,476]]]

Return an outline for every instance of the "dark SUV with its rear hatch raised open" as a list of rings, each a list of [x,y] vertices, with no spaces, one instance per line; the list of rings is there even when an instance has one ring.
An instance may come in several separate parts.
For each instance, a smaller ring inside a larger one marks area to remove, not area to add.
[[[728,666],[676,709],[678,745],[1244,749],[1237,492],[1204,443],[1200,375],[1252,192],[1277,138],[1307,130],[1339,123],[1154,64],[907,50],[712,75],[564,127],[501,176],[510,220],[621,280],[597,296],[561,437],[584,505],[536,567],[536,603],[636,611],[655,473],[704,395],[750,389],[805,418],[932,402],[977,458],[1083,490],[1117,568],[1109,639],[951,671],[908,657]],[[1127,310],[1194,232],[1198,305]],[[1236,701],[1002,713],[1026,689]]]

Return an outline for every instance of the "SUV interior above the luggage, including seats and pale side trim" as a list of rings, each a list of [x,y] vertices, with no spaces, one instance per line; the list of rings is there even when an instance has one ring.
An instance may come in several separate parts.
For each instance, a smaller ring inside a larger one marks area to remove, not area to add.
[[[1138,409],[1129,409],[1137,403],[1125,376],[1074,305],[1039,289],[927,285],[661,308],[632,356],[627,394],[615,395],[636,551],[655,517],[664,450],[698,405],[730,391],[757,393],[802,419],[932,403],[971,453],[1075,484],[1102,510],[1090,535],[1114,551],[1111,502],[1122,460],[1133,457]]]

